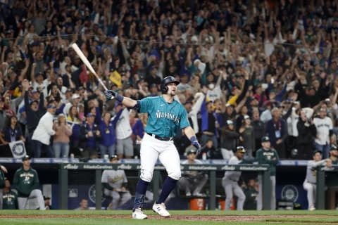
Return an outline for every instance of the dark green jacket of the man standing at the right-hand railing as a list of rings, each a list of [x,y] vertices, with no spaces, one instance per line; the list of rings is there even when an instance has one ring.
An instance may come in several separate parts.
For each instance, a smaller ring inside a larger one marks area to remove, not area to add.
[[[276,160],[273,160],[273,158],[276,158]],[[270,165],[270,176],[276,175],[276,165],[280,161],[276,150],[271,148],[269,150],[259,148],[256,152],[256,160],[258,161],[258,164]]]

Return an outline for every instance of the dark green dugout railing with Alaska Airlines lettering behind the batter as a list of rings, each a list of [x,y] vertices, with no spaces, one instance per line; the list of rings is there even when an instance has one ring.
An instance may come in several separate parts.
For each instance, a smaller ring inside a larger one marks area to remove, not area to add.
[[[60,163],[58,169],[58,184],[59,184],[59,208],[61,210],[68,209],[68,171],[69,170],[94,170],[95,171],[95,189],[96,189],[96,210],[101,210],[101,174],[104,169],[124,169],[124,170],[139,170],[139,163],[122,162],[118,164],[111,163],[84,163],[84,162],[69,162]],[[158,164],[155,166],[153,181],[154,199],[158,198],[160,188],[160,172],[165,168]],[[181,165],[182,170],[194,170],[208,172],[209,176],[209,210],[215,210],[216,206],[216,172],[217,171],[242,171],[242,172],[258,172],[263,176],[263,193],[270,193],[270,172],[268,165],[224,165],[224,164],[201,164],[201,165]],[[263,210],[270,210],[270,195],[263,195]]]

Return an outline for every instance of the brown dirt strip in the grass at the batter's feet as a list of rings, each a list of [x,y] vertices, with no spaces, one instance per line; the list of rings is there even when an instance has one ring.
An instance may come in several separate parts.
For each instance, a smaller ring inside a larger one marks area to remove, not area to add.
[[[199,215],[173,215],[170,220],[182,220],[182,221],[266,221],[268,219],[278,218],[303,218],[303,217],[325,217],[325,215],[274,215],[274,216],[199,216]],[[91,218],[91,219],[131,219],[129,215],[14,215],[6,214],[0,215],[0,219],[16,219],[16,218],[34,218],[34,219],[46,219],[46,218]],[[149,215],[149,219],[168,219],[159,217],[156,215]],[[300,223],[301,224],[301,223]],[[308,222],[307,222],[308,224]]]

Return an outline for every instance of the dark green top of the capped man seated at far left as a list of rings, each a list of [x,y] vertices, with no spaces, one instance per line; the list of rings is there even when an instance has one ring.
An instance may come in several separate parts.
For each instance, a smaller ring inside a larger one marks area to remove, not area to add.
[[[19,197],[28,197],[30,192],[39,187],[39,176],[35,169],[25,170],[23,167],[20,167],[15,171],[13,184],[18,190]]]

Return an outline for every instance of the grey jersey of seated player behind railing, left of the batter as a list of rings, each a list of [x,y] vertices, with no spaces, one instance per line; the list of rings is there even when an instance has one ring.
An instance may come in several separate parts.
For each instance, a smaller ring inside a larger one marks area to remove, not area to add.
[[[122,188],[127,183],[127,176],[122,169],[106,169],[102,173],[101,183],[108,183],[112,188]]]

